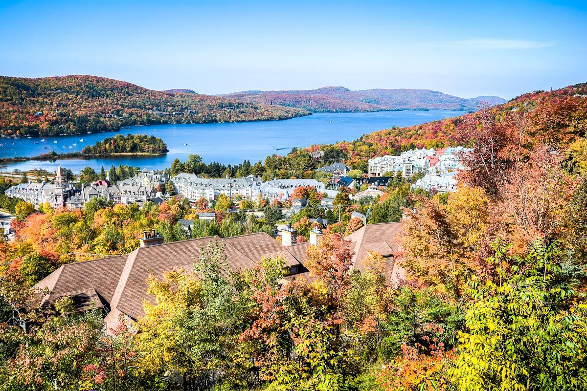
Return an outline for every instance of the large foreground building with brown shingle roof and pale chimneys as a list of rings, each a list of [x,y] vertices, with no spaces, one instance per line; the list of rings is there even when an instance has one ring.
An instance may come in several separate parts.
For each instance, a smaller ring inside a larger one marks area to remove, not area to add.
[[[405,277],[397,262],[401,254],[397,240],[401,228],[399,222],[370,224],[346,236],[352,251],[352,267],[365,271],[370,251],[377,251],[383,256],[381,266],[386,282],[400,283]],[[133,322],[144,315],[143,301],[154,300],[145,289],[150,274],[161,277],[168,270],[190,269],[198,259],[198,249],[210,243],[225,244],[225,263],[232,271],[252,269],[264,257],[279,255],[284,259],[285,281],[301,277],[313,281],[315,277],[305,266],[306,254],[309,247],[322,240],[322,232],[313,229],[309,242],[299,244],[297,236],[298,232],[287,226],[281,230],[281,244],[265,232],[163,243],[164,237],[152,230],[143,232],[140,247],[130,254],[64,264],[35,288],[46,292],[40,304],[49,308],[60,297],[71,298],[76,311],[102,308],[104,329],[112,330],[122,321]]]

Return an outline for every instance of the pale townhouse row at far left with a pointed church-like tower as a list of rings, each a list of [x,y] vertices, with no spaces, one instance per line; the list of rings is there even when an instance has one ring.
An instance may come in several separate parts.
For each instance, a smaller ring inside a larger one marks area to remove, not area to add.
[[[90,199],[98,197],[106,198],[114,203],[134,203],[157,196],[153,187],[147,187],[140,183],[137,181],[136,184],[110,185],[110,182],[106,180],[97,181],[89,186],[82,185],[78,189],[73,183],[66,180],[59,165],[53,183],[29,181],[12,186],[6,189],[5,193],[9,197],[22,198],[35,206],[48,202],[53,208],[80,209]]]

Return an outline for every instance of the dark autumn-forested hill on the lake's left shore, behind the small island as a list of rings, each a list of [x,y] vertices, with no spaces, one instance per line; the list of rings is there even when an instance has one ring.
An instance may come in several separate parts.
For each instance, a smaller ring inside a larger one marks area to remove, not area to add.
[[[148,90],[97,76],[0,77],[0,134],[57,135],[127,125],[281,120],[305,110]]]

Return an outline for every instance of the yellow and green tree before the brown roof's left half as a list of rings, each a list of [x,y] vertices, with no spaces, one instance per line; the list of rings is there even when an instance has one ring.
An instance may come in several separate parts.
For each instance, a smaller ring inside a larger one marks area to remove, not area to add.
[[[149,277],[147,293],[156,301],[144,303],[137,325],[142,370],[153,376],[170,369],[204,379],[242,376],[234,362],[246,311],[228,272],[222,245],[211,242],[200,249],[192,271]]]

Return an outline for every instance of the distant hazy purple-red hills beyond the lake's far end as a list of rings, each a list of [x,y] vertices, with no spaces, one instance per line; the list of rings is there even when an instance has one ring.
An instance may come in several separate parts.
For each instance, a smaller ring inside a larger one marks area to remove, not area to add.
[[[352,91],[345,87],[316,90],[241,91],[222,95],[243,102],[298,107],[312,112],[383,111],[383,110],[477,110],[505,100],[495,96],[460,98],[432,90],[373,89]]]

